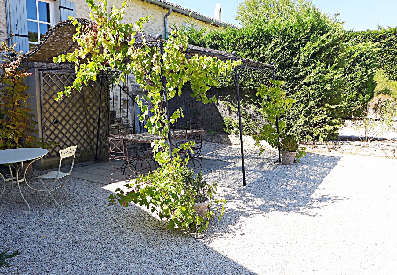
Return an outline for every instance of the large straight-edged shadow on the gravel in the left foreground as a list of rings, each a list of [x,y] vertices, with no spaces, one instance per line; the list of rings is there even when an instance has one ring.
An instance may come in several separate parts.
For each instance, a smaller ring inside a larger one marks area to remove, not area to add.
[[[0,274],[255,274],[134,204],[106,206],[102,184],[76,179],[68,190],[76,203],[63,211],[39,210],[35,192],[26,192],[31,211],[15,188],[0,198],[0,249],[20,252]]]

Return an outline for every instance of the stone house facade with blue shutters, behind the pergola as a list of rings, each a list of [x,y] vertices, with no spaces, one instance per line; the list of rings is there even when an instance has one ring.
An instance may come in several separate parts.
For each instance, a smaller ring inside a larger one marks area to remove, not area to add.
[[[123,0],[109,0],[109,4],[121,5]],[[144,25],[148,35],[157,33],[167,37],[172,26],[191,25],[197,29],[206,27],[235,27],[222,21],[220,5],[217,4],[214,18],[188,10],[166,0],[131,0],[126,10],[125,20],[136,21],[139,17],[151,15],[149,23]],[[8,45],[17,43],[17,50],[28,52],[40,43],[47,29],[59,21],[69,18],[69,15],[79,18],[89,18],[89,8],[85,0],[0,0],[0,42]],[[27,79],[29,100],[35,109],[35,116],[39,122],[37,138],[56,141],[49,154],[37,166],[46,168],[52,163],[58,163],[58,151],[63,147],[77,145],[79,160],[93,158],[93,148],[96,143],[98,120],[98,89],[100,83],[87,87],[87,91],[75,93],[73,97],[62,102],[54,101],[56,92],[70,85],[73,81],[73,66],[70,64],[53,64],[52,60],[42,62],[25,62],[33,76]],[[117,87],[108,87],[107,100],[102,101],[102,125],[109,125],[110,120],[116,119],[132,125],[139,132],[136,120],[139,112],[132,98],[142,94],[134,83],[133,76],[128,77],[128,83],[121,83]],[[105,118],[105,119],[104,119]],[[108,129],[100,133],[102,154],[106,155],[106,135]],[[99,140],[98,139],[98,140]]]

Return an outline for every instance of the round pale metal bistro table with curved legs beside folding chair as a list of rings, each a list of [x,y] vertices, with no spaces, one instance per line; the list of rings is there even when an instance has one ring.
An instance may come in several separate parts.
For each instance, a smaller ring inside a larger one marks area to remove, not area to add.
[[[0,165],[1,164],[6,164],[8,165],[8,168],[10,169],[10,174],[11,177],[5,179],[4,176],[0,173],[0,176],[3,178],[4,181],[4,187],[3,187],[3,192],[0,194],[0,197],[3,195],[4,191],[6,190],[6,183],[9,182],[11,183],[11,189],[8,191],[7,196],[10,196],[10,192],[13,188],[14,183],[18,185],[19,193],[21,193],[23,201],[27,204],[27,208],[30,210],[29,203],[27,203],[26,199],[23,197],[22,191],[21,191],[21,186],[19,186],[20,182],[25,181],[25,184],[32,190],[35,191],[42,191],[46,192],[46,190],[39,190],[31,187],[27,181],[26,181],[26,170],[23,173],[23,177],[19,178],[19,170],[23,168],[23,162],[25,161],[30,161],[28,165],[26,165],[26,168],[28,168],[34,161],[37,161],[38,159],[41,159],[43,156],[45,156],[48,153],[47,149],[43,148],[16,148],[16,149],[7,149],[7,150],[1,150],[0,151]],[[12,169],[11,165],[15,163],[15,176],[12,174]]]

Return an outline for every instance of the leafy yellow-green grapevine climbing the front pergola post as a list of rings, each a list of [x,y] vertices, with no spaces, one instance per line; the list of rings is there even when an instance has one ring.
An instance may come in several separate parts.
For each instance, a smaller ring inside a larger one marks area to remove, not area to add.
[[[54,58],[55,62],[73,62],[75,64],[76,79],[73,85],[59,91],[58,99],[71,96],[80,91],[83,85],[89,85],[101,71],[117,71],[119,78],[112,79],[115,83],[123,81],[123,76],[134,74],[135,80],[141,88],[147,91],[143,99],[137,97],[136,101],[141,108],[140,120],[151,112],[146,126],[150,134],[156,134],[161,139],[152,143],[154,158],[160,167],[141,175],[131,184],[127,184],[127,192],[116,190],[110,195],[110,202],[118,201],[127,207],[129,203],[145,205],[156,212],[161,219],[168,221],[168,226],[175,229],[195,229],[199,232],[208,227],[208,219],[213,218],[216,208],[206,213],[207,219],[198,216],[193,210],[194,191],[183,187],[182,170],[184,161],[178,154],[179,150],[189,150],[192,144],[186,143],[181,148],[168,151],[166,136],[170,125],[183,116],[179,108],[170,115],[168,120],[164,108],[162,76],[166,80],[167,99],[170,100],[181,95],[182,87],[189,82],[192,87],[192,97],[203,103],[214,102],[206,93],[214,85],[214,76],[231,72],[239,64],[236,61],[220,61],[208,56],[191,56],[189,59],[184,51],[187,48],[187,37],[173,31],[170,39],[164,42],[163,54],[158,47],[149,47],[143,43],[140,47],[134,45],[134,36],[141,31],[143,23],[148,17],[140,18],[135,23],[122,23],[127,3],[123,2],[118,8],[113,5],[108,9],[108,2],[86,0],[91,9],[93,23],[84,25],[74,18],[70,18],[77,26],[73,39],[77,43],[75,51],[62,54]],[[85,60],[81,62],[81,60]],[[212,73],[212,74],[210,74]],[[151,108],[144,104],[151,105]],[[214,197],[214,202],[221,202]],[[219,216],[223,214],[220,208]]]

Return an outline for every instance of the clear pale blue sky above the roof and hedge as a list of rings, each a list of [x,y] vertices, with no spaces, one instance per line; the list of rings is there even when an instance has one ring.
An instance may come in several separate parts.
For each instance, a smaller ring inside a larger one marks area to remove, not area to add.
[[[172,0],[172,2],[204,15],[214,16],[216,3],[222,7],[222,20],[238,25],[234,19],[237,0]],[[323,12],[337,10],[346,29],[362,31],[382,27],[397,27],[397,0],[313,0]]]

